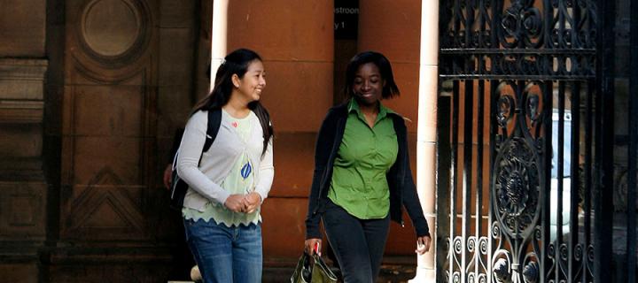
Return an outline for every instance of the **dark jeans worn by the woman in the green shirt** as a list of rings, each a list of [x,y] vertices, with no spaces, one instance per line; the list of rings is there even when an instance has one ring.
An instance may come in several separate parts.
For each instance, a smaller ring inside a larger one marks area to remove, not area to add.
[[[381,267],[390,217],[355,218],[329,201],[322,219],[344,282],[375,282]]]

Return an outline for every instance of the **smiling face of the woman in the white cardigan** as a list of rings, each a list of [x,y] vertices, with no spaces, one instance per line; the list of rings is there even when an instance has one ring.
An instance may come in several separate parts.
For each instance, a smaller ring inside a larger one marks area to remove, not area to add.
[[[260,100],[261,91],[266,88],[266,71],[260,60],[254,60],[248,65],[244,77],[233,75],[233,84],[237,95],[247,103]]]

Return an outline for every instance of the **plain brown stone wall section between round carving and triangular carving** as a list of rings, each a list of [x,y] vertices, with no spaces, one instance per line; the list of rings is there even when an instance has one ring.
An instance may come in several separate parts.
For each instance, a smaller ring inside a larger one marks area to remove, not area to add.
[[[154,96],[144,86],[66,87],[63,184],[86,184],[104,166],[125,184],[144,184]]]

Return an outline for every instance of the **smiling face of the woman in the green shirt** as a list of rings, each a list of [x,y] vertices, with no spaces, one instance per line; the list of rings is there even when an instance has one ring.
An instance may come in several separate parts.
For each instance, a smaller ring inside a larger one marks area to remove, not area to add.
[[[354,98],[362,105],[375,105],[383,96],[384,85],[385,80],[381,77],[377,65],[374,63],[360,65],[354,73],[352,84]]]

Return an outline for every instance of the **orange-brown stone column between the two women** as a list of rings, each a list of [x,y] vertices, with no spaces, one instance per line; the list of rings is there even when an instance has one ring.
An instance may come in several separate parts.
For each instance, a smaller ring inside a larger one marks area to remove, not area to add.
[[[265,265],[303,249],[316,132],[333,102],[332,1],[229,1],[228,52],[257,51],[275,126],[275,180],[261,210]]]

